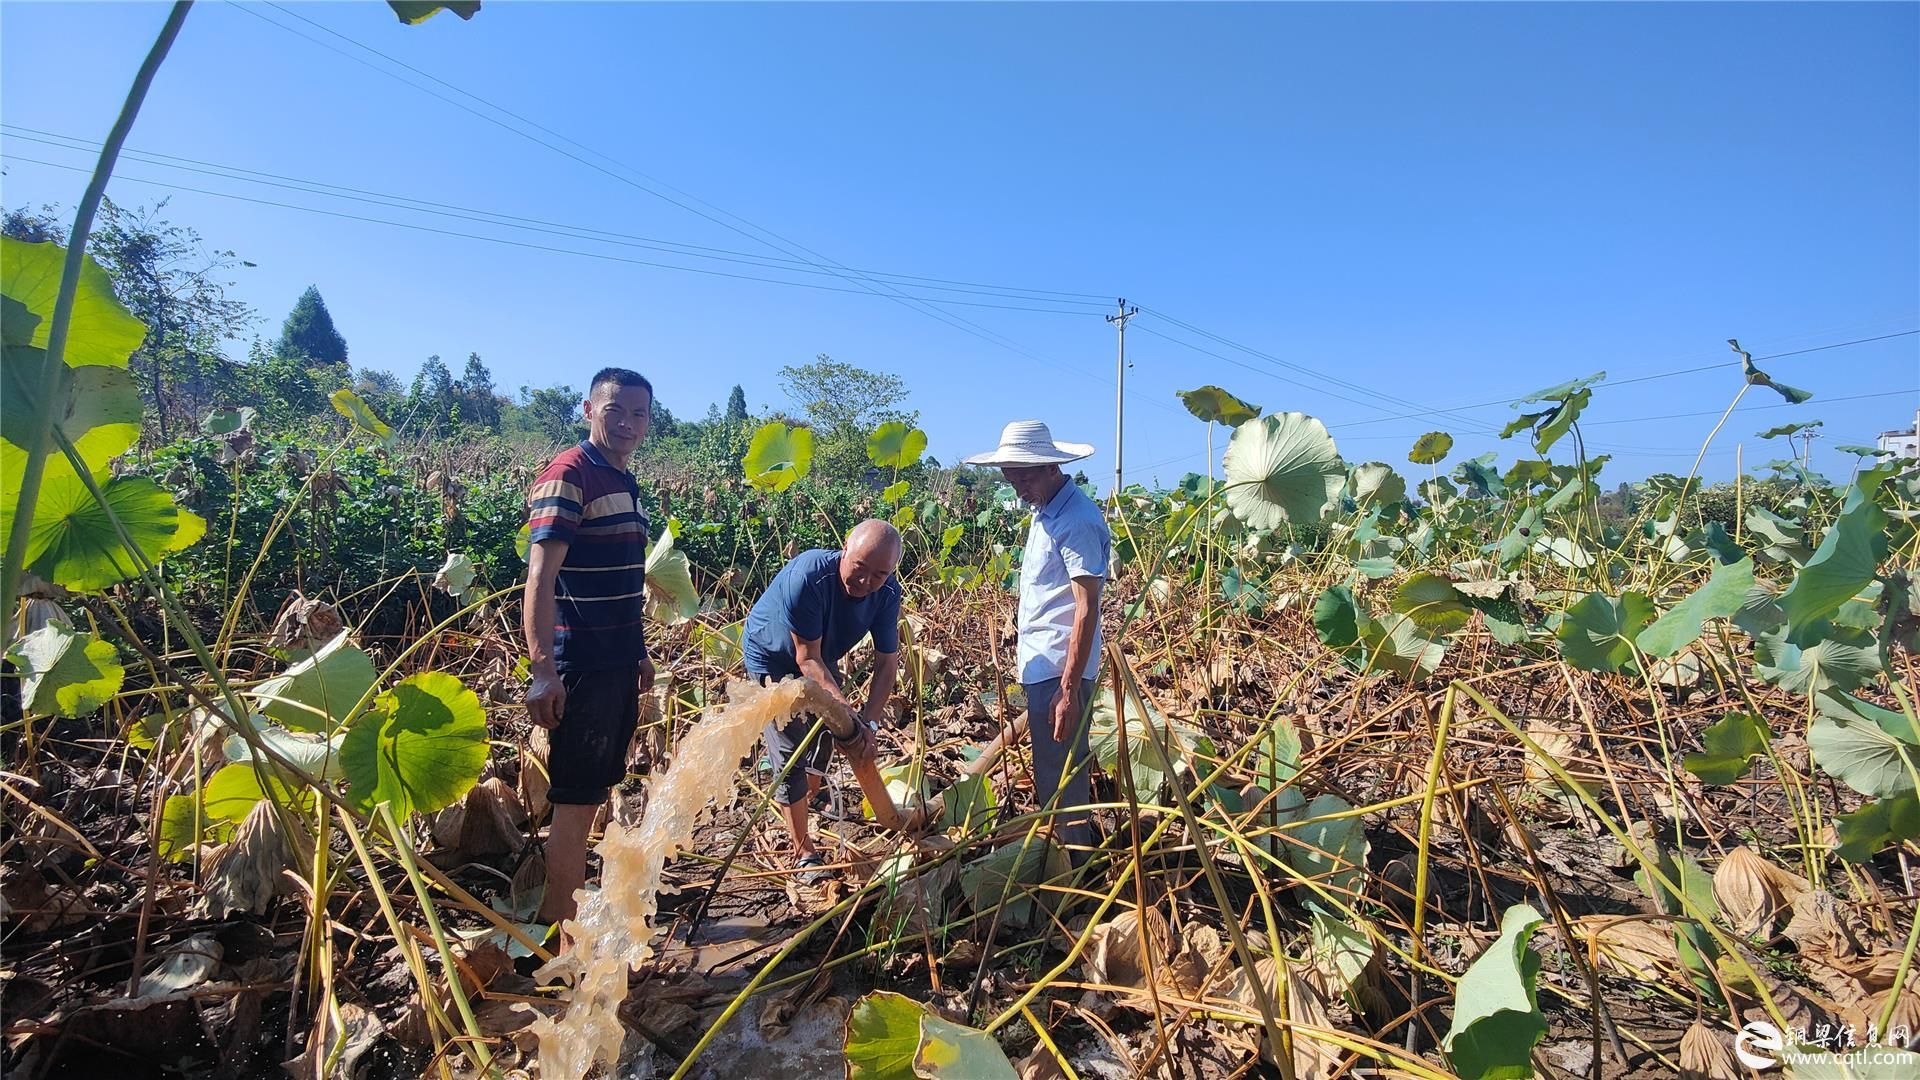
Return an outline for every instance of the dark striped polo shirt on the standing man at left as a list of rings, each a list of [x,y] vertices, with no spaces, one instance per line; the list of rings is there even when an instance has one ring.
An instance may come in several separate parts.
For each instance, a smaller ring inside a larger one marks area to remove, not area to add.
[[[561,452],[526,496],[528,538],[564,540],[555,586],[553,661],[563,671],[639,663],[647,511],[639,484],[591,442]]]

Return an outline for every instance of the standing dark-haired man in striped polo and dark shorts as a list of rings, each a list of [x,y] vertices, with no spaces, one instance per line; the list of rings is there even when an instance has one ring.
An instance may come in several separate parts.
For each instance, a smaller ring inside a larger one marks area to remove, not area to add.
[[[553,826],[540,922],[574,915],[588,830],[614,784],[653,690],[641,626],[647,515],[626,463],[647,438],[653,384],[624,367],[593,375],[588,440],[563,450],[528,492],[522,626],[534,682],[526,711],[547,728]]]

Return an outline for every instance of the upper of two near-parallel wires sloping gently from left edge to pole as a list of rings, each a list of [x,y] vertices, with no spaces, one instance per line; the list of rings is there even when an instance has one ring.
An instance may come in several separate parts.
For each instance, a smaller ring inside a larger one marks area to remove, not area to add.
[[[92,140],[86,140],[86,138],[79,138],[79,136],[73,136],[73,135],[60,135],[60,133],[54,133],[54,131],[40,131],[40,129],[33,129],[33,127],[15,125],[15,123],[0,123],[0,129],[15,133],[15,135],[12,135],[12,138],[19,138],[19,140],[25,140],[25,142],[38,142],[42,146],[58,146],[61,150],[83,150],[83,152],[90,154],[90,152],[98,150],[98,146],[100,146],[98,142],[92,142]],[[19,133],[25,133],[25,135],[19,135]],[[607,231],[607,229],[593,229],[593,227],[588,227],[588,225],[568,225],[564,221],[545,221],[545,219],[540,219],[540,217],[524,217],[524,215],[515,215],[515,213],[505,213],[505,211],[495,211],[495,209],[478,209],[478,208],[470,208],[470,206],[455,206],[455,204],[447,204],[447,202],[440,202],[440,200],[422,200],[422,198],[401,196],[401,194],[392,194],[392,192],[378,192],[378,190],[369,190],[369,188],[355,188],[355,186],[346,186],[346,184],[332,184],[332,183],[315,181],[315,179],[309,179],[309,177],[288,177],[284,173],[265,173],[265,171],[259,171],[259,169],[246,169],[246,167],[240,167],[240,165],[225,165],[225,163],[219,163],[219,161],[202,161],[198,158],[182,158],[179,154],[159,154],[159,152],[154,152],[154,150],[125,148],[125,150],[121,150],[121,156],[136,160],[136,161],[146,163],[146,165],[159,165],[159,167],[165,167],[165,169],[179,169],[179,171],[186,171],[186,173],[202,173],[202,175],[211,175],[211,177],[228,179],[228,181],[242,181],[242,183],[250,183],[250,184],[263,184],[263,186],[273,186],[273,188],[300,190],[300,192],[307,192],[307,194],[321,194],[321,196],[342,198],[342,200],[351,200],[351,202],[371,202],[371,204],[376,204],[376,206],[388,206],[388,208],[394,208],[394,209],[407,209],[407,211],[415,211],[415,213],[432,213],[432,215],[438,215],[438,217],[455,217],[455,219],[463,219],[463,221],[480,221],[480,223],[486,223],[486,225],[507,225],[511,229],[526,229],[526,231],[534,231],[534,233],[551,233],[551,234],[559,234],[559,236],[572,236],[572,238],[586,238],[586,240],[605,240],[609,244],[622,244],[622,246],[632,246],[632,248],[647,248],[647,250],[659,250],[659,252],[668,252],[668,254],[676,254],[676,256],[691,256],[691,258],[701,258],[701,259],[718,259],[718,261],[732,261],[732,263],[751,263],[751,265],[760,265],[760,267],[768,267],[768,269],[781,269],[781,271],[789,271],[789,273],[810,273],[810,275],[829,275],[829,273],[833,273],[833,271],[820,269],[816,263],[808,263],[808,261],[803,261],[803,259],[781,259],[781,258],[776,258],[776,256],[755,256],[751,252],[735,252],[735,250],[730,250],[730,248],[710,248],[710,246],[703,246],[703,244],[684,244],[684,242],[678,242],[678,240],[660,240],[657,236],[639,236],[639,234],[632,234],[632,233],[612,233],[612,231]],[[1044,290],[1044,288],[1016,288],[1016,286],[1004,286],[1004,284],[985,284],[985,282],[973,282],[973,281],[956,281],[956,279],[922,277],[922,275],[902,275],[902,273],[885,273],[885,271],[858,271],[858,273],[862,273],[866,277],[872,277],[872,279],[891,279],[891,281],[902,282],[902,284],[906,284],[910,288],[937,288],[937,290],[943,290],[943,292],[973,292],[973,294],[981,294],[981,296],[1004,296],[1004,298],[1010,298],[1010,300],[1033,300],[1033,302],[1041,302],[1041,304],[1085,304],[1085,306],[1102,306],[1102,307],[1106,306],[1104,298],[1102,300],[1077,300],[1079,296],[1096,296],[1096,294],[1060,292],[1060,290]]]

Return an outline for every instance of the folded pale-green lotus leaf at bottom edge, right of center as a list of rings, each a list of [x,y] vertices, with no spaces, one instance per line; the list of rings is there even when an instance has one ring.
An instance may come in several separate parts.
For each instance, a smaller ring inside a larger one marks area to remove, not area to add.
[[[1500,917],[1500,938],[1453,988],[1453,1026],[1440,1047],[1461,1080],[1532,1076],[1532,1047],[1548,1034],[1536,997],[1540,953],[1526,947],[1546,919],[1524,903]]]

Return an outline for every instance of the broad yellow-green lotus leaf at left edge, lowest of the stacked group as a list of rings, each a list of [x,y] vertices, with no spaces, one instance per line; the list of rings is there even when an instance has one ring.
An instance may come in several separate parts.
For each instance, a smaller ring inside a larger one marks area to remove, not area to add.
[[[138,573],[108,511],[71,469],[48,469],[27,542],[27,569],[75,592],[98,592]],[[207,523],[173,503],[173,494],[140,477],[117,477],[102,494],[148,561],[200,540]],[[13,528],[13,502],[0,500],[0,536]]]

